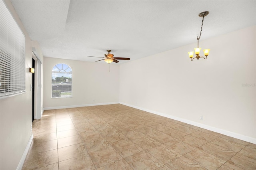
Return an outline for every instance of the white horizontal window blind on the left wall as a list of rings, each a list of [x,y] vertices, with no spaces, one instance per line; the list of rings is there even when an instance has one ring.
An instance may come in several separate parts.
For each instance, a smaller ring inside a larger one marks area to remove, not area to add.
[[[24,91],[25,36],[0,0],[0,98]]]

